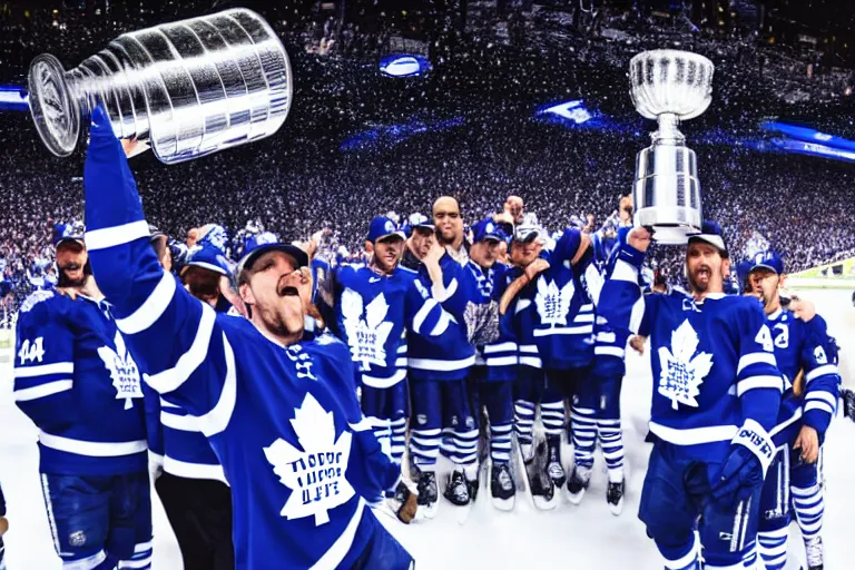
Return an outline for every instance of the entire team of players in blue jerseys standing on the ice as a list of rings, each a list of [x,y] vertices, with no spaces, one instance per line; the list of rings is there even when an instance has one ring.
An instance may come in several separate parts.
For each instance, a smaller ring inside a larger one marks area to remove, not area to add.
[[[517,197],[466,232],[442,197],[431,218],[374,218],[362,263],[262,233],[233,267],[208,228],[181,288],[98,120],[86,239],[59,237],[58,289],[28,299],[17,331],[16,400],[40,431],[66,567],[150,567],[147,469],[187,568],[407,568],[366,503],[410,522],[442,493],[462,521],[482,473],[501,510],[520,488],[540,509],[562,489],[578,503],[598,444],[619,514],[628,344],[651,355],[639,515],[666,568],[784,568],[793,515],[823,567],[836,345],[822,317],[780,306],[774,253],[743,267],[749,295],[725,295],[729,253],[705,224],[689,291],[652,291],[651,235],[626,198],[611,228],[549,234]],[[191,500],[208,483],[226,498],[217,517],[181,522],[216,508]],[[234,547],[212,532],[224,527]]]

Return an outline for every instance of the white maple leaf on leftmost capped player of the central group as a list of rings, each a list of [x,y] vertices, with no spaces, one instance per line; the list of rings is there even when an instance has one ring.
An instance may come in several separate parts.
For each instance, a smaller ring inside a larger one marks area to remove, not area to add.
[[[386,340],[393,324],[385,321],[389,304],[383,293],[363,311],[362,295],[348,287],[342,293],[341,307],[351,355],[360,363],[360,370],[367,371],[370,364],[385,366]]]

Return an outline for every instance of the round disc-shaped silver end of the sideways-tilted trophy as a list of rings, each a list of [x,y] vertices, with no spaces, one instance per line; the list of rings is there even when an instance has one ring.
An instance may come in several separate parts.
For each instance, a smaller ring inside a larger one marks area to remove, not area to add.
[[[69,156],[80,138],[80,109],[57,58],[42,53],[28,75],[30,115],[45,146],[53,155]]]

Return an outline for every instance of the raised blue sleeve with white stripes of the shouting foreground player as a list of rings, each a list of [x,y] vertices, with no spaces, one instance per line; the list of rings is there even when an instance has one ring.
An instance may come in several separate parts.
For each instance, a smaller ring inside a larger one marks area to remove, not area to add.
[[[145,363],[144,380],[202,416],[206,435],[222,431],[234,410],[234,352],[214,309],[160,267],[125,151],[101,108],[92,114],[83,187],[92,273],[131,353]]]

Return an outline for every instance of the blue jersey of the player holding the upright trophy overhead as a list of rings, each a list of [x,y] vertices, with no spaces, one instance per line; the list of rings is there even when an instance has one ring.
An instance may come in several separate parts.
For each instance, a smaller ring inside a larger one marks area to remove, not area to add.
[[[689,458],[716,462],[750,424],[765,442],[767,466],[783,380],[759,303],[724,294],[702,302],[680,292],[642,296],[645,256],[628,244],[618,247],[599,309],[615,330],[650,337],[650,431]]]

